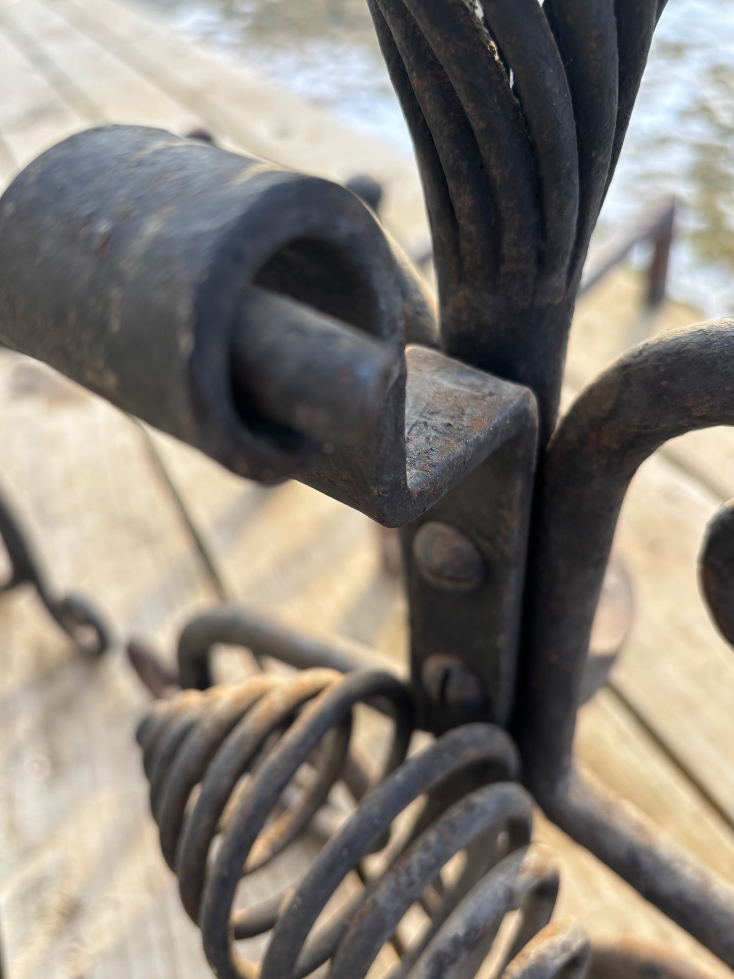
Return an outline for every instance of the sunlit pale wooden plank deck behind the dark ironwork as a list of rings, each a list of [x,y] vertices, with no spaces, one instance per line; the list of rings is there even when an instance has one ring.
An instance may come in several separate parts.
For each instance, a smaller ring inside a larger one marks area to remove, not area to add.
[[[0,142],[0,179],[101,118],[178,131],[201,120],[232,145],[284,163],[342,178],[371,170],[388,183],[390,226],[405,240],[424,233],[413,163],[360,134],[344,138],[340,123],[138,10],[115,0],[22,0],[0,13],[0,137],[8,148],[4,158]],[[6,63],[18,72],[12,79]],[[136,109],[138,100],[145,107]],[[622,279],[625,289],[617,278],[606,300],[600,292],[579,304],[571,388],[636,329],[634,288]],[[665,311],[666,325],[687,318],[681,307]],[[0,357],[0,403],[3,480],[56,580],[84,587],[122,634],[143,632],[172,649],[187,616],[214,594],[139,430],[9,354]],[[365,518],[298,484],[255,487],[169,439],[155,443],[232,597],[404,655],[404,598],[382,571]],[[619,535],[640,610],[617,682],[684,761],[700,761],[722,809],[734,806],[727,759],[734,660],[699,604],[692,562],[703,523],[734,477],[732,445],[732,433],[715,432],[699,435],[695,447],[669,446],[635,481]],[[9,979],[206,976],[199,933],[180,908],[147,812],[132,740],[142,691],[119,653],[80,663],[32,594],[0,599],[0,632],[0,922]],[[578,751],[734,880],[730,826],[611,692],[583,712]],[[654,938],[699,955],[557,830],[541,824],[539,835],[556,845],[568,871],[561,910],[577,913],[593,935]],[[298,861],[306,858],[300,851]],[[724,974],[711,956],[700,958]]]

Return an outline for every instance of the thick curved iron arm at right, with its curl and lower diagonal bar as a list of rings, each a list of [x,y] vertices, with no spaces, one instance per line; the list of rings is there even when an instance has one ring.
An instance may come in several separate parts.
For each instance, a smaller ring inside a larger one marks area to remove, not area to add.
[[[730,965],[734,889],[592,785],[573,766],[573,732],[629,483],[669,439],[734,424],[733,362],[734,320],[666,334],[624,354],[559,425],[542,474],[514,723],[525,780],[547,815]],[[719,600],[712,602],[719,623],[731,617],[722,589],[730,566],[720,560],[731,553],[729,527],[724,511],[705,551],[707,593]]]

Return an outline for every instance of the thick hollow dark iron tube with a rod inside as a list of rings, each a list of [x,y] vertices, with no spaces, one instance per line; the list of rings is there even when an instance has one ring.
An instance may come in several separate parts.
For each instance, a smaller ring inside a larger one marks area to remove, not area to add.
[[[23,170],[0,269],[8,346],[258,479],[302,469],[342,415],[374,428],[400,396],[406,325],[433,322],[344,187],[141,126],[78,133]],[[325,347],[340,374],[308,389],[309,415],[294,378],[316,381]]]

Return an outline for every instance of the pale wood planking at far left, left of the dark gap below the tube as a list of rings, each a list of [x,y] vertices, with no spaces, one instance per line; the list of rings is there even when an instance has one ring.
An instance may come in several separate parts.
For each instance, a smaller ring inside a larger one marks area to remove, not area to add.
[[[140,432],[102,401],[0,356],[3,486],[53,581],[119,635],[171,641],[213,595]],[[79,660],[32,592],[0,602],[0,921],[8,974],[206,974],[161,863],[134,745],[146,698],[121,652]]]

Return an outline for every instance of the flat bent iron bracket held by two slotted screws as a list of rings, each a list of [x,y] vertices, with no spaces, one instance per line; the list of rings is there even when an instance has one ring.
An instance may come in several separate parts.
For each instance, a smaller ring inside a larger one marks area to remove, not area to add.
[[[453,360],[441,362],[439,356],[417,347],[407,351],[408,462],[415,466],[416,457],[425,460],[422,476],[430,476],[434,487],[432,474],[439,470],[441,481],[450,473],[454,485],[401,531],[418,723],[434,731],[470,720],[509,721],[537,454],[535,403],[527,389],[486,385],[480,372],[460,372]],[[420,389],[411,386],[416,361],[428,382]],[[428,400],[431,388],[437,396]],[[447,529],[441,532],[442,544],[436,525]],[[447,533],[453,547],[445,546]],[[473,576],[474,586],[457,589],[456,542],[461,538],[473,548],[474,571],[465,567],[460,574]],[[429,555],[426,545],[432,541]],[[428,574],[427,559],[432,561]],[[436,655],[460,659],[465,671],[478,678],[480,695],[470,682],[468,697],[436,699],[420,682]]]

